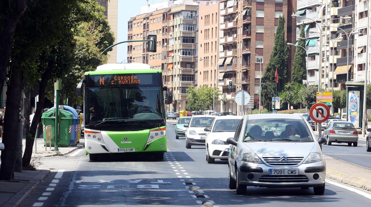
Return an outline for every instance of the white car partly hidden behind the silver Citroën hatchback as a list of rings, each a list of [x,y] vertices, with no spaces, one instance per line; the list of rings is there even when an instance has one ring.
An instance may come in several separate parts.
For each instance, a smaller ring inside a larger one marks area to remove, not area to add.
[[[206,136],[206,161],[214,163],[215,159],[227,160],[229,144],[227,138],[233,137],[242,116],[219,116],[214,119],[211,127],[204,130],[209,131]]]

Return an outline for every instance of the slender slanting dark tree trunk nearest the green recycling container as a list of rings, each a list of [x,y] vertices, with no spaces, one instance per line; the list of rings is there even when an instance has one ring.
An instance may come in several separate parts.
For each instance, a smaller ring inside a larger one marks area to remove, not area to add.
[[[43,73],[40,83],[40,89],[39,89],[39,102],[37,103],[37,107],[35,110],[35,115],[33,116],[33,120],[30,127],[30,134],[26,137],[26,148],[24,149],[24,154],[22,158],[23,167],[30,167],[30,161],[32,157],[32,148],[33,143],[35,141],[35,134],[37,126],[39,125],[40,118],[42,115],[42,110],[44,107],[45,102],[45,89],[47,85],[47,81],[50,79],[50,76],[52,74],[52,65],[49,64],[49,68]]]

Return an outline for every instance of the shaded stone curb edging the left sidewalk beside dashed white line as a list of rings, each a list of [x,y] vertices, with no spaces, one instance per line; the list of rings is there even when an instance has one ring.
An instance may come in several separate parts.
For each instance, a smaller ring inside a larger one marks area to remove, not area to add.
[[[31,180],[27,185],[17,192],[5,206],[20,206],[20,204],[36,189],[36,187],[48,176],[50,170],[40,170],[40,173],[35,176],[37,180]]]

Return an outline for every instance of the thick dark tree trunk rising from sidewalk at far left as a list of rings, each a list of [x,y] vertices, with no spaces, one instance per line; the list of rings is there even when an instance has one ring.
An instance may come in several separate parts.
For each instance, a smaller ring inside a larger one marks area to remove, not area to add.
[[[16,163],[16,140],[19,112],[21,107],[23,90],[23,72],[20,69],[13,69],[10,84],[7,90],[7,100],[4,116],[3,144],[5,150],[1,152],[0,180],[14,179],[14,166]]]

